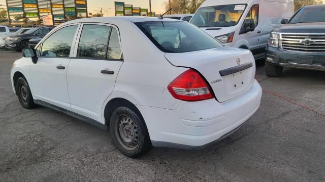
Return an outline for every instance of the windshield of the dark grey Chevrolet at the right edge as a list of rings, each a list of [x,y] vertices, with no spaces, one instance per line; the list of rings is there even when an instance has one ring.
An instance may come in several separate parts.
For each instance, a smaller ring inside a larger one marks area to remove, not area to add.
[[[289,24],[325,22],[325,6],[304,7],[290,20]]]

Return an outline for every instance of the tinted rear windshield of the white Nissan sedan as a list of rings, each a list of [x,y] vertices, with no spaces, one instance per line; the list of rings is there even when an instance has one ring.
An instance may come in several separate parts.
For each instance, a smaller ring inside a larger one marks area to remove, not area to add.
[[[163,52],[183,53],[222,45],[198,27],[179,21],[138,22],[136,25]]]

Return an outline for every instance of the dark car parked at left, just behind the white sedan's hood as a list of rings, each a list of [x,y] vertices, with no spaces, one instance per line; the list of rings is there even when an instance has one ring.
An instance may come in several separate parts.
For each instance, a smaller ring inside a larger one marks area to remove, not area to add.
[[[51,27],[35,27],[27,30],[23,34],[9,35],[6,37],[6,48],[10,50],[21,51],[28,48],[28,40],[32,38],[43,38],[54,26]]]

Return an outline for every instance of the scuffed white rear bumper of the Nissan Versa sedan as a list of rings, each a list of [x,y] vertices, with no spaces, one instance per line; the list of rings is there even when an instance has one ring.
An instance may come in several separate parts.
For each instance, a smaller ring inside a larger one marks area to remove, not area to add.
[[[262,88],[254,81],[248,92],[223,103],[214,99],[181,102],[176,110],[137,107],[146,121],[153,146],[197,149],[239,129],[256,112],[261,97]]]

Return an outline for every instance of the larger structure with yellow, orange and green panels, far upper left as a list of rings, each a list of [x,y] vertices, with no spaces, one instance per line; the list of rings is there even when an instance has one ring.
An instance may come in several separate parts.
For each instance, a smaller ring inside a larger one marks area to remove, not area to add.
[[[10,22],[40,23],[45,15],[52,15],[55,22],[86,18],[86,0],[6,0]]]

